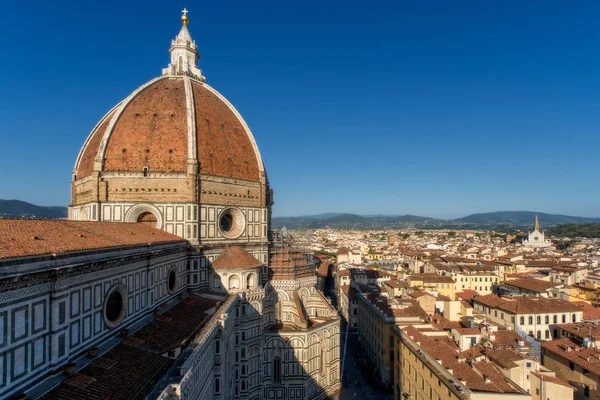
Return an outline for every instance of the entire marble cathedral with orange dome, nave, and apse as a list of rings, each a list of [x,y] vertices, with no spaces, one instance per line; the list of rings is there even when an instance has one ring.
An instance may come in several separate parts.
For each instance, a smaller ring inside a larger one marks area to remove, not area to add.
[[[1,398],[340,389],[337,312],[314,259],[271,231],[252,133],[182,22],[163,75],[85,141],[69,221],[0,220]]]

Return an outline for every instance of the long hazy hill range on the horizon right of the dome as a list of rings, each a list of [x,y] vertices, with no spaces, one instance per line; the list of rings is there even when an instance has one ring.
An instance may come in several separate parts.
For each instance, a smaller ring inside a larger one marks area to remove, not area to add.
[[[331,215],[331,216],[329,216]],[[312,217],[275,217],[274,227],[290,229],[490,229],[512,231],[533,229],[535,216],[540,219],[542,229],[558,224],[600,222],[600,218],[573,217],[569,215],[547,214],[535,211],[497,211],[472,214],[453,220],[443,220],[417,215],[356,215],[321,214]]]

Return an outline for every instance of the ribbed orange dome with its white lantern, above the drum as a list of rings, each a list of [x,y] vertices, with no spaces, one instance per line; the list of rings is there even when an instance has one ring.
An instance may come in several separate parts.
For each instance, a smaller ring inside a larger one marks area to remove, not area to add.
[[[163,76],[111,109],[85,141],[74,180],[98,173],[185,173],[260,181],[262,159],[250,129],[196,67],[195,42],[182,18]]]

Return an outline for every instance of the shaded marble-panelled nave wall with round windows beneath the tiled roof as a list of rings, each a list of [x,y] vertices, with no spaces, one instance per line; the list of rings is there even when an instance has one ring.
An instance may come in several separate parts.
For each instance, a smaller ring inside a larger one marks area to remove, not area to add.
[[[181,245],[154,249],[153,255],[146,247],[108,258],[68,257],[55,270],[44,270],[47,264],[34,259],[19,266],[29,271],[24,278],[0,279],[0,398],[28,388],[187,290]]]

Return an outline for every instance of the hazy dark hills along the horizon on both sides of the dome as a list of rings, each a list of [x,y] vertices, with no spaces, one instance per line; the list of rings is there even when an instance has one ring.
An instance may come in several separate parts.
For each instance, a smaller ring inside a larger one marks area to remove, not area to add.
[[[531,230],[538,216],[542,229],[561,224],[599,223],[600,218],[574,217],[547,214],[536,211],[496,211],[472,214],[457,219],[439,219],[417,215],[356,215],[348,213],[324,213],[300,217],[274,217],[273,227],[290,229],[493,229]],[[48,218],[67,217],[66,207],[37,206],[21,200],[0,200],[0,217]]]

